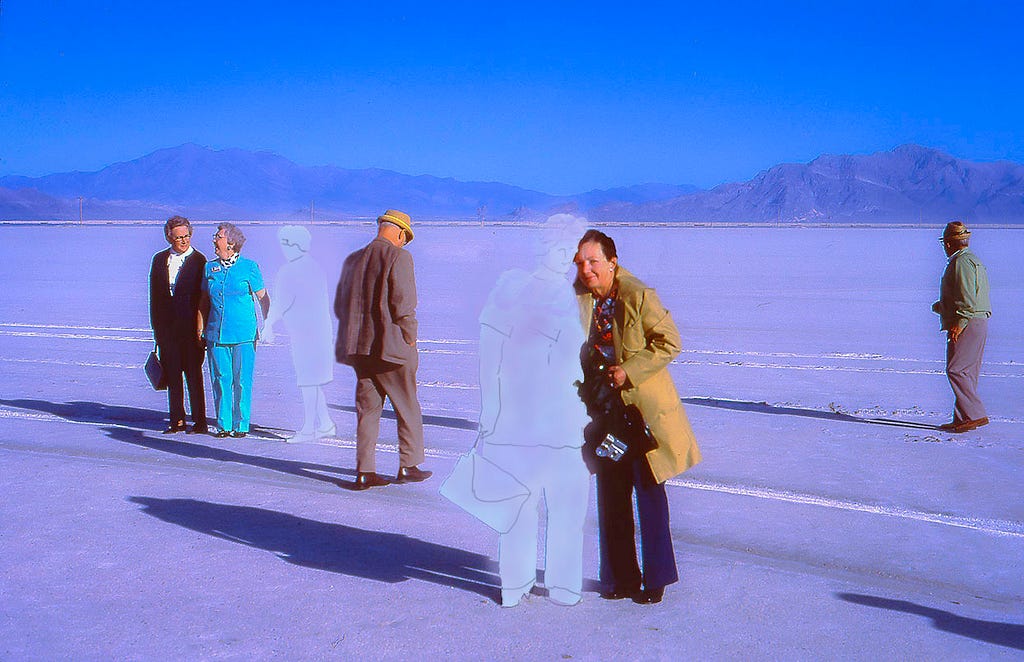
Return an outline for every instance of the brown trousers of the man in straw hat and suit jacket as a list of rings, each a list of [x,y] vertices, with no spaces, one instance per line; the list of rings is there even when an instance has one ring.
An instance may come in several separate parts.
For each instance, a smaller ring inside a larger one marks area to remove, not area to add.
[[[377,470],[377,438],[380,435],[384,399],[391,401],[398,419],[398,465],[416,466],[423,461],[423,413],[416,399],[416,368],[419,358],[394,367],[362,361],[355,368],[355,470]]]

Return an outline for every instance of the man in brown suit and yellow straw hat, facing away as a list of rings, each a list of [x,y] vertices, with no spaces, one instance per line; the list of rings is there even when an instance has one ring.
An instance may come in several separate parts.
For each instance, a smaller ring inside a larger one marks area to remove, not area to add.
[[[355,370],[356,490],[387,485],[377,473],[376,450],[384,399],[398,419],[397,483],[425,481],[423,415],[416,399],[416,277],[408,214],[388,209],[377,219],[377,237],[347,258],[334,311],[338,316],[335,356]]]

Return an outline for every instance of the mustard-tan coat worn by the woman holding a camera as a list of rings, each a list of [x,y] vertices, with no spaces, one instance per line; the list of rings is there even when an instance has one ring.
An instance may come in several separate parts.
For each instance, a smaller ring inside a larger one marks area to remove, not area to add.
[[[693,428],[669,374],[669,363],[682,348],[679,329],[651,288],[624,267],[615,271],[618,299],[611,337],[615,360],[629,381],[623,402],[636,405],[654,437],[647,453],[651,473],[665,483],[700,461]],[[577,299],[584,328],[591,328],[594,297],[577,283]]]

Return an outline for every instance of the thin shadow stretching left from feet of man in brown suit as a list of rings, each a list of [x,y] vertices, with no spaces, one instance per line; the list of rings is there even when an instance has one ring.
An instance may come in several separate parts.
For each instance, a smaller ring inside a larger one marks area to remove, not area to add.
[[[148,437],[140,430],[132,429],[130,427],[102,427],[101,429],[106,432],[108,437],[115,441],[124,442],[125,444],[134,444],[135,446],[141,446],[142,448],[148,448],[154,451],[172,453],[174,455],[180,455],[181,457],[216,460],[218,462],[234,462],[236,464],[248,464],[261,469],[280,471],[281,473],[290,473],[303,479],[324,481],[325,483],[331,483],[343,488],[351,487],[352,483],[348,481],[341,481],[333,475],[325,475],[325,473],[351,477],[355,475],[355,471],[352,469],[343,469],[337,466],[331,466],[330,464],[315,464],[312,462],[300,462],[297,460],[283,460],[274,457],[250,455],[248,453],[239,453],[238,451],[230,451],[224,448],[196,444],[195,442],[181,442],[165,438],[163,436]],[[231,440],[231,443],[237,444],[238,442]],[[244,444],[245,442],[242,443]]]

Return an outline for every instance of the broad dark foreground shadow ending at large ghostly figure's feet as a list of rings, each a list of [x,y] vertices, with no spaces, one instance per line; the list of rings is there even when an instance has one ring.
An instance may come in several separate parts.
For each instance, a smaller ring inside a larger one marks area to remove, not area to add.
[[[499,598],[497,564],[464,549],[251,506],[143,496],[129,500],[164,522],[265,549],[296,566],[387,583],[420,579]]]

